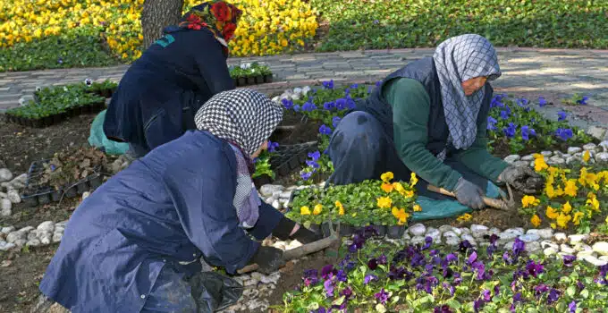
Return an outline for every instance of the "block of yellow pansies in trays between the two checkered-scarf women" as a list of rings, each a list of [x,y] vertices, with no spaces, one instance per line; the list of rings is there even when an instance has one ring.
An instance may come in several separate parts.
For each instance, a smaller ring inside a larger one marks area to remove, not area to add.
[[[325,235],[329,234],[325,221],[331,218],[341,223],[342,235],[369,225],[381,235],[401,238],[410,213],[421,210],[416,203],[417,182],[414,173],[410,182],[393,182],[393,173],[387,172],[381,181],[301,189],[294,192],[286,216]]]

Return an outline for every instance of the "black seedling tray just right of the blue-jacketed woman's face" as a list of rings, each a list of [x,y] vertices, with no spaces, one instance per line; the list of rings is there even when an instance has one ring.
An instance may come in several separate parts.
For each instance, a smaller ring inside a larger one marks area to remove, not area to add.
[[[305,164],[308,153],[317,149],[317,141],[296,145],[280,146],[277,142],[268,142],[268,150],[254,160],[256,172],[252,175],[254,184],[260,186],[272,183],[280,177],[286,177]]]

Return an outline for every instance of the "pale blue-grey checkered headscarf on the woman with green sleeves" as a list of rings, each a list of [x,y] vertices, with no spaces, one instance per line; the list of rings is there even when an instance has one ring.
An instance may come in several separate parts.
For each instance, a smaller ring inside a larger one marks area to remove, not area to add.
[[[487,76],[488,81],[500,77],[496,51],[486,38],[467,34],[443,41],[435,49],[433,60],[441,84],[445,122],[450,129],[449,141],[454,148],[469,148],[477,137],[477,114],[485,89],[467,97],[461,83],[480,76]],[[443,152],[439,157],[444,156]]]

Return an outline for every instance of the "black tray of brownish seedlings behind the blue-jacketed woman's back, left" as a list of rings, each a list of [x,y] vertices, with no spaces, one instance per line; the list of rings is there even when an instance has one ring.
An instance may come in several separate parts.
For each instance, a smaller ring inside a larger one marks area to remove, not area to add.
[[[106,155],[95,148],[70,149],[34,162],[21,199],[34,207],[95,190],[103,182],[105,164]]]

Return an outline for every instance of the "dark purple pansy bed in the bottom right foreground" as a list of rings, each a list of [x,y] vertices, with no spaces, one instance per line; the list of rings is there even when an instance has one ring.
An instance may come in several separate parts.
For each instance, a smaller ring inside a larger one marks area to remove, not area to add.
[[[608,265],[577,257],[528,255],[515,239],[504,253],[489,236],[486,248],[460,241],[452,249],[433,239],[406,246],[371,241],[376,230],[356,233],[345,257],[309,269],[296,291],[283,294],[283,312],[584,312],[608,300]]]

